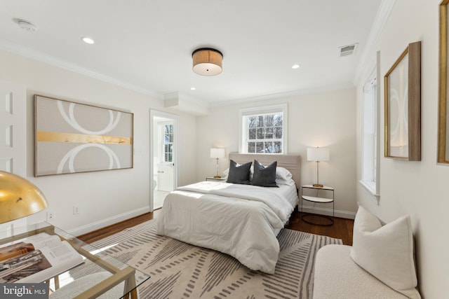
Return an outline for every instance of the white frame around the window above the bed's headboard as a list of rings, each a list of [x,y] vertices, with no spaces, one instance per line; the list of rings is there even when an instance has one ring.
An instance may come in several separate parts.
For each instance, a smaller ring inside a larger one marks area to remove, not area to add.
[[[282,151],[275,154],[287,153],[288,140],[288,105],[258,106],[239,110],[239,152],[248,153],[248,116],[261,114],[282,113]]]

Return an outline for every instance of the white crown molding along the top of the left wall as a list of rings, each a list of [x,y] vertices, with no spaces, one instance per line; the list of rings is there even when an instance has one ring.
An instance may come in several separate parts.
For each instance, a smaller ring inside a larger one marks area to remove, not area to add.
[[[163,99],[163,95],[160,95],[157,92],[153,92],[152,90],[147,90],[146,88],[141,88],[138,85],[133,85],[125,81],[121,81],[116,78],[112,78],[109,76],[105,76],[103,74],[97,73],[95,71],[91,71],[90,69],[85,69],[83,67],[79,67],[76,64],[72,64],[65,60],[60,60],[59,58],[43,54],[39,51],[32,50],[27,47],[19,46],[15,43],[11,43],[11,41],[6,41],[4,39],[0,39],[0,49],[6,50],[7,52],[17,54],[23,57],[27,57],[32,60],[37,60],[39,62],[43,62],[45,64],[51,64],[53,67],[58,67],[60,69],[66,69],[67,71],[73,71],[77,74],[81,74],[83,76],[88,76],[91,78],[98,79],[100,81],[104,81],[113,85],[117,85],[121,88],[126,88],[128,90],[133,90],[135,92],[140,92],[144,95],[149,95],[150,97],[154,97],[155,99]]]

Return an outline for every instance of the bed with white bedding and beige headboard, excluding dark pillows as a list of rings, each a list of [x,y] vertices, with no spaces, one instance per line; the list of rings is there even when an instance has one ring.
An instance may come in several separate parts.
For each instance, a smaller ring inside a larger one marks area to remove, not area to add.
[[[276,236],[299,201],[300,156],[229,153],[229,160],[238,165],[257,160],[264,166],[276,161],[276,183],[281,171],[290,173],[290,183],[279,188],[220,181],[182,186],[164,200],[157,233],[227,253],[251,270],[273,274],[279,255]]]

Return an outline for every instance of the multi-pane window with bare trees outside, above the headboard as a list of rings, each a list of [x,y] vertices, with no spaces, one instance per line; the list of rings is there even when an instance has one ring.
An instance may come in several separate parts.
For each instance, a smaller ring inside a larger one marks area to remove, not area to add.
[[[240,111],[241,153],[287,152],[287,104]]]

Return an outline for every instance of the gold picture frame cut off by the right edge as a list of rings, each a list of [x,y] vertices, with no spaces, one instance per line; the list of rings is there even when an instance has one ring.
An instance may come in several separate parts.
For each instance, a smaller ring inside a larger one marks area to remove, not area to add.
[[[438,83],[438,156],[439,163],[449,163],[449,124],[448,124],[448,4],[440,4],[440,57]]]

